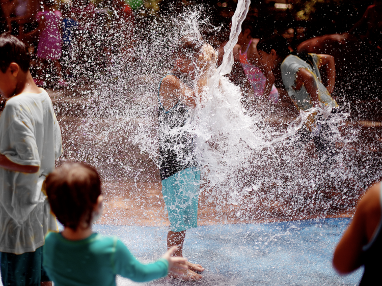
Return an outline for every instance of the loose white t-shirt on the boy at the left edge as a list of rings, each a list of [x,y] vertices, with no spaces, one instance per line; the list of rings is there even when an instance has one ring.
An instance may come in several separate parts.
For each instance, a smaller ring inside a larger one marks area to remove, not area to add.
[[[0,251],[21,254],[44,245],[57,230],[41,187],[62,154],[61,131],[49,95],[23,93],[10,98],[0,116],[0,153],[20,165],[39,166],[35,174],[0,167]]]

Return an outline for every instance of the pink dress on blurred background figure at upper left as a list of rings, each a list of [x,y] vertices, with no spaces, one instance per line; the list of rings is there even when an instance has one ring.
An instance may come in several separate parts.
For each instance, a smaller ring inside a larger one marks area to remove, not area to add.
[[[59,60],[62,52],[61,12],[58,10],[37,13],[37,20],[44,22],[40,31],[37,55],[45,60]]]

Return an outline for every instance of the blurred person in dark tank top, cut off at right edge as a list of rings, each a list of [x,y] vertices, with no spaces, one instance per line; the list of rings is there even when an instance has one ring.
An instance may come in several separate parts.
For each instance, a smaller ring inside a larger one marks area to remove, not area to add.
[[[340,274],[365,267],[360,286],[379,285],[382,266],[382,184],[371,186],[338,243],[333,266]]]

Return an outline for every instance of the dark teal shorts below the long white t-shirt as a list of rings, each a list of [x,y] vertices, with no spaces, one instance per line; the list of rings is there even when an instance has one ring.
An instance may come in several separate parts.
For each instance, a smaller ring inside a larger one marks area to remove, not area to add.
[[[40,286],[40,282],[51,281],[42,267],[41,246],[34,252],[14,254],[0,252],[0,269],[4,286]]]

